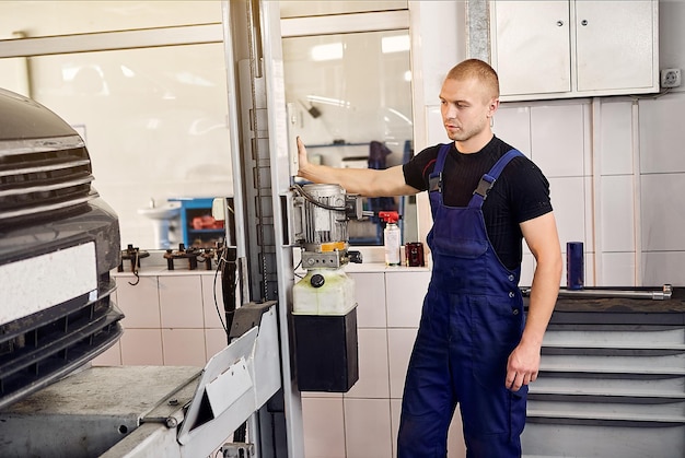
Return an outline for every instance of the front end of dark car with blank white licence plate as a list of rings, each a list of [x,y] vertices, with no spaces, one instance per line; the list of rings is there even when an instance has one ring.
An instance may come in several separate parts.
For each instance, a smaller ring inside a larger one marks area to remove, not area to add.
[[[78,132],[0,90],[0,408],[121,336],[109,277],[121,257],[119,224],[92,181]]]

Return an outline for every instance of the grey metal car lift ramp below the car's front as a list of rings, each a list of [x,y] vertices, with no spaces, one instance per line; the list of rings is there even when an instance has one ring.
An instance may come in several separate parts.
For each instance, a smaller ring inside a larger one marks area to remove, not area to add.
[[[10,406],[0,411],[0,455],[212,455],[280,389],[275,304],[244,305],[245,312],[260,315],[259,326],[233,340],[205,368],[94,366]]]

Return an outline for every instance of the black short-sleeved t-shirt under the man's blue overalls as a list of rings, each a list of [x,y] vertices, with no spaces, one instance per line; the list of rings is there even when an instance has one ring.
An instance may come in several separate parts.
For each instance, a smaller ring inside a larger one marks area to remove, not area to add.
[[[405,183],[418,190],[428,189],[440,144],[427,148],[403,166]],[[442,171],[443,202],[466,207],[478,181],[512,146],[497,137],[477,153],[463,154],[454,143]],[[483,203],[488,238],[501,262],[509,269],[521,263],[523,249],[520,223],[552,211],[549,183],[527,157],[514,157],[495,181]]]

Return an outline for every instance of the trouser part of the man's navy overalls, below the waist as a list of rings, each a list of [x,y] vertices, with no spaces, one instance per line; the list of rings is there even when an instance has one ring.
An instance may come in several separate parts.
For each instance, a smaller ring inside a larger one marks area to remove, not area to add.
[[[456,402],[469,458],[521,456],[527,388],[512,394],[504,387],[516,330],[508,330],[507,317],[502,322],[484,315],[488,308],[481,300],[465,301],[455,306],[427,297],[407,369],[398,458],[445,457]],[[498,322],[507,329],[498,329]]]

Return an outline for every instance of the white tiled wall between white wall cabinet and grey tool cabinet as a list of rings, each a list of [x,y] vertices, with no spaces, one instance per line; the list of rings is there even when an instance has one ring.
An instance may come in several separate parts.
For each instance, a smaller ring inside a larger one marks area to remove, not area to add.
[[[495,133],[549,180],[562,251],[584,243],[585,285],[685,284],[683,116],[682,92],[500,106]],[[525,285],[534,260],[524,253]]]

